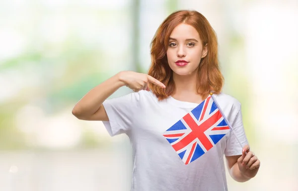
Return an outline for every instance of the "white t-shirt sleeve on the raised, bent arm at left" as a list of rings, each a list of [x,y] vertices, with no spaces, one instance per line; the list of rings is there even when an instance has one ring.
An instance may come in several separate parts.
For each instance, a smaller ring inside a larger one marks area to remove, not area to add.
[[[126,133],[132,127],[133,116],[137,112],[139,93],[131,93],[117,98],[106,99],[102,104],[109,121],[102,121],[110,136]]]

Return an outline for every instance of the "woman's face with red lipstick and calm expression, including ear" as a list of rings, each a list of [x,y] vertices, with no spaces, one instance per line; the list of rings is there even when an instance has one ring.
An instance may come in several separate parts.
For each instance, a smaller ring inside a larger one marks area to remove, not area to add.
[[[192,75],[197,72],[201,58],[207,55],[198,31],[191,25],[181,23],[170,34],[167,60],[177,75]]]

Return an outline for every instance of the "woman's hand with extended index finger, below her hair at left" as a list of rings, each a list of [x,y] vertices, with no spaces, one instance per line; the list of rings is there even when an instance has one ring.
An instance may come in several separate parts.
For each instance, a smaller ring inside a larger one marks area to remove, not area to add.
[[[125,86],[132,89],[134,92],[141,90],[149,90],[148,83],[155,84],[161,88],[165,88],[164,84],[149,76],[148,74],[137,73],[133,71],[122,71],[119,74],[119,79],[125,84]]]

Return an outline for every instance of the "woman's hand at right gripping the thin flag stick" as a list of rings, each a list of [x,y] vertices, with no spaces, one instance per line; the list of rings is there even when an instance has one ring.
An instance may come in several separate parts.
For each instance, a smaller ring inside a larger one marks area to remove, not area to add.
[[[256,176],[260,168],[259,159],[253,152],[249,150],[248,145],[245,145],[243,147],[242,155],[240,158],[238,158],[237,163],[240,172],[248,178],[253,178],[254,176]]]

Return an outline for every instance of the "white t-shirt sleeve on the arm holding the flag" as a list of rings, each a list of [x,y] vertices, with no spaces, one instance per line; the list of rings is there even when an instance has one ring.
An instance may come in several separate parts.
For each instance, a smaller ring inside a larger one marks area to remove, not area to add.
[[[241,142],[241,144],[247,145],[248,141],[245,135],[243,122],[242,122],[242,114],[241,114],[241,105],[239,107],[238,113],[231,124],[233,128],[233,132],[230,131],[229,137],[226,140],[226,147],[224,150],[225,156],[235,156],[235,155],[242,155],[242,147],[238,140]],[[237,140],[237,138],[238,140]]]

